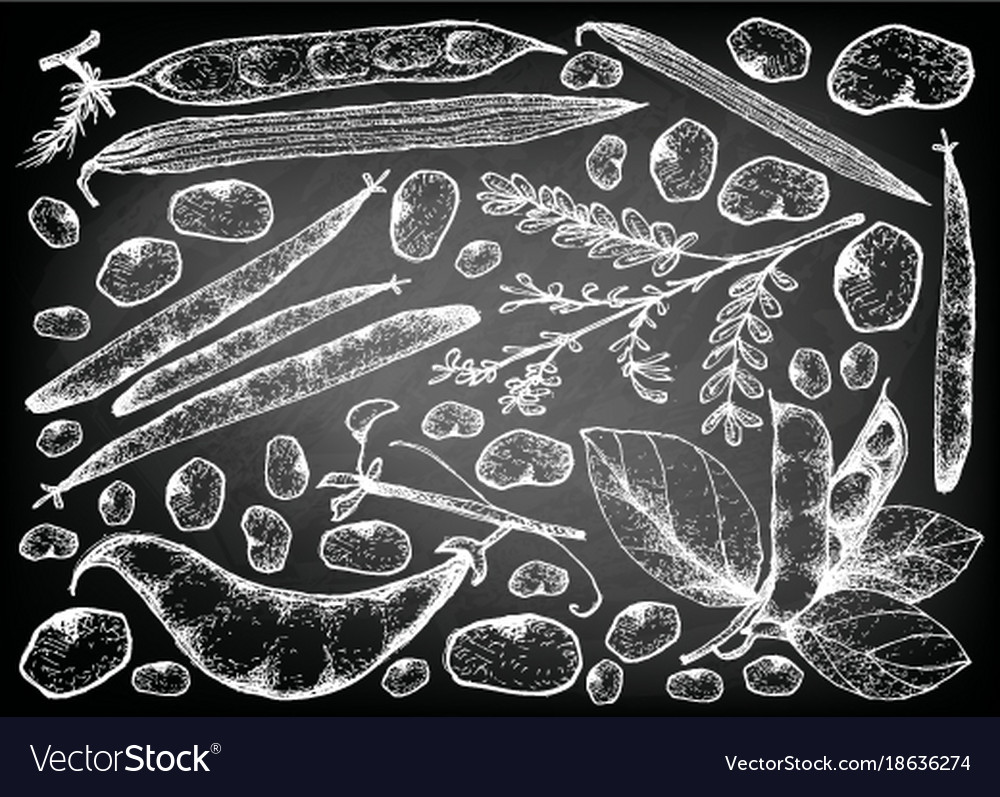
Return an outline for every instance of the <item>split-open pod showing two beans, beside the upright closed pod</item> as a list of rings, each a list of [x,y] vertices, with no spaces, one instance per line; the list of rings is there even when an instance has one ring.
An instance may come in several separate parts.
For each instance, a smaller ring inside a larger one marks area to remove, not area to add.
[[[886,380],[864,428],[833,474],[830,533],[840,558],[861,541],[906,464],[906,424],[886,394],[888,386]]]

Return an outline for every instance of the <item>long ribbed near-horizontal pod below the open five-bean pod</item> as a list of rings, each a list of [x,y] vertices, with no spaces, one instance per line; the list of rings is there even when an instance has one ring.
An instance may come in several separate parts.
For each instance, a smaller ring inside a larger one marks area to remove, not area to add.
[[[86,161],[77,185],[96,206],[90,178],[178,174],[291,158],[524,144],[643,107],[607,97],[480,94],[304,111],[196,116],[149,125]]]

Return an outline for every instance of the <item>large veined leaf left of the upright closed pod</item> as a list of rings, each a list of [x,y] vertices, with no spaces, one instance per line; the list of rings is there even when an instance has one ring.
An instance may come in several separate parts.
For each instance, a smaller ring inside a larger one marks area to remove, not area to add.
[[[760,524],[722,463],[674,435],[580,434],[604,519],[649,575],[702,606],[756,599]]]

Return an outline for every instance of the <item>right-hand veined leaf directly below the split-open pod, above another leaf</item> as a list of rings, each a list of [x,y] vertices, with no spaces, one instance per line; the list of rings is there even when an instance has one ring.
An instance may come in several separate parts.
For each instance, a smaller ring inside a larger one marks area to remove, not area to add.
[[[918,603],[954,581],[982,541],[979,532],[937,512],[887,506],[831,577],[839,589]]]

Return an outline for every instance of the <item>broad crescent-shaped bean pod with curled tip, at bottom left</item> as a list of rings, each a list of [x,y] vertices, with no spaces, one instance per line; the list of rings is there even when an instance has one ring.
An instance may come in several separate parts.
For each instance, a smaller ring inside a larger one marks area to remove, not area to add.
[[[322,697],[357,683],[410,642],[472,568],[451,556],[391,584],[343,595],[269,587],[152,534],[115,534],[85,553],[70,592],[94,567],[118,573],[191,663],[238,692],[269,700]]]

